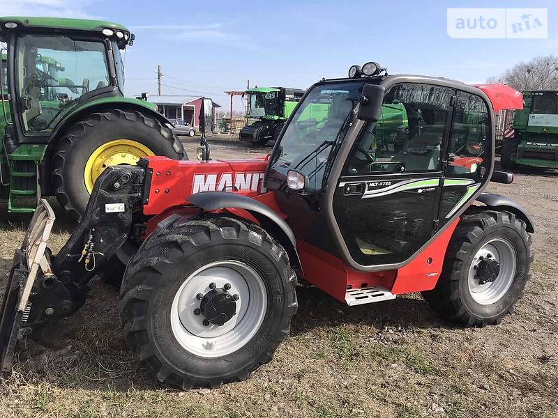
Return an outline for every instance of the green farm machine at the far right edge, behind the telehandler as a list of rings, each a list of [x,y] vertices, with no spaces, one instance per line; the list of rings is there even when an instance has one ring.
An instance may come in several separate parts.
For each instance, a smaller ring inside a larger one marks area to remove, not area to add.
[[[513,137],[503,139],[502,168],[558,167],[558,91],[524,91],[523,100]]]

